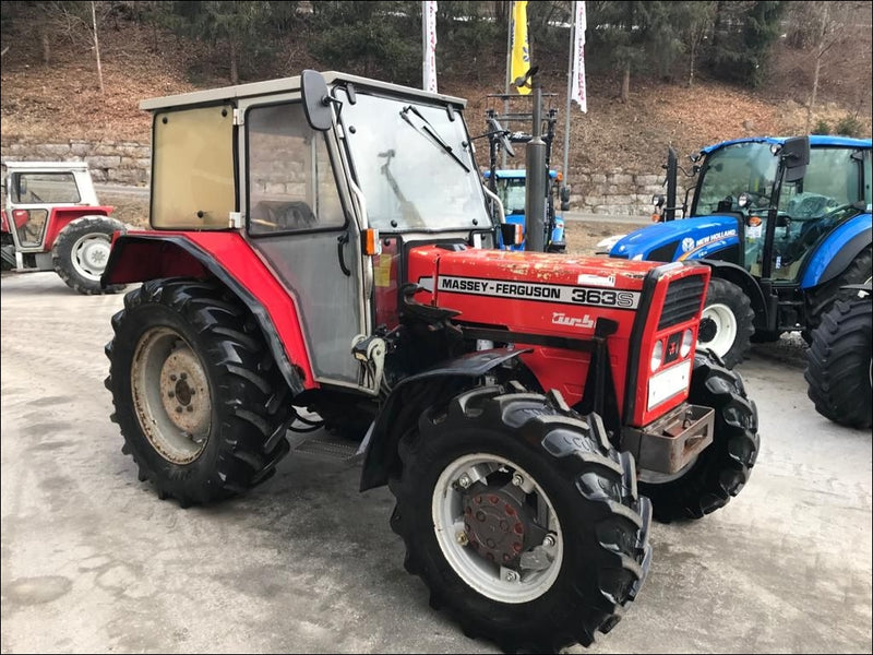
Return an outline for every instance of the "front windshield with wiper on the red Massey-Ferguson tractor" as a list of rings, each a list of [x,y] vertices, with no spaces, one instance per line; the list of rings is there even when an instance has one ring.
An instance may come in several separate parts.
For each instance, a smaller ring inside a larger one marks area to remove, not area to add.
[[[340,118],[370,226],[383,231],[488,227],[485,194],[459,114],[345,90]]]

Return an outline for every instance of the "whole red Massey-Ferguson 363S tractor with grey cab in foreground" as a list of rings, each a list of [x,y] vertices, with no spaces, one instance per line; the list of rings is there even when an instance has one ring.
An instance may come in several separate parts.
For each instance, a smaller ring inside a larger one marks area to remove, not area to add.
[[[708,267],[494,249],[464,106],[315,71],[142,103],[154,229],[103,277],[143,283],[112,419],[187,507],[270,478],[318,414],[466,633],[588,645],[643,584],[653,505],[745,485],[757,413],[695,354]]]

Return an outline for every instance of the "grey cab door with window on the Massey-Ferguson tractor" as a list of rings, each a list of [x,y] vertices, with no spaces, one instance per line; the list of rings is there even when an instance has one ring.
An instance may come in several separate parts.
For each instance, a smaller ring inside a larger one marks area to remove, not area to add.
[[[370,393],[351,346],[370,333],[360,230],[332,131],[297,97],[242,103],[242,209],[254,249],[294,297],[315,379]]]

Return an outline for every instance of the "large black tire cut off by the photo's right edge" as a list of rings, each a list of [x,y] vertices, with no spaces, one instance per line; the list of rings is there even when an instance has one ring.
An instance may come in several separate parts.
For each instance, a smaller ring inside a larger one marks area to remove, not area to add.
[[[806,394],[825,418],[852,428],[873,425],[870,296],[837,300],[812,333],[806,350]]]

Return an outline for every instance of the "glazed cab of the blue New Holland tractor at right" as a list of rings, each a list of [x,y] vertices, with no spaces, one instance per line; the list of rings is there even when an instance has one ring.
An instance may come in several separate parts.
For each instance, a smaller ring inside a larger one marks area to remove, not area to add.
[[[734,217],[737,263],[775,284],[800,283],[822,238],[870,213],[869,145],[810,141],[808,154],[801,143],[797,155],[785,156],[785,142],[772,139],[729,142],[702,153],[691,215]],[[798,160],[808,162],[799,174]]]

